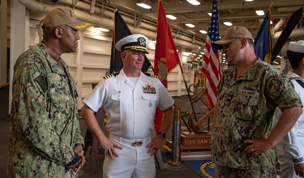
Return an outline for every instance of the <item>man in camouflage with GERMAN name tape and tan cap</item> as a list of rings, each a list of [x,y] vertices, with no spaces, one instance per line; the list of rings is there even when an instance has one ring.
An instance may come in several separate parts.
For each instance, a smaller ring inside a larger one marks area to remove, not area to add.
[[[67,8],[49,12],[43,40],[14,66],[8,177],[77,177],[85,163],[78,94],[62,53],[76,52],[88,28]]]

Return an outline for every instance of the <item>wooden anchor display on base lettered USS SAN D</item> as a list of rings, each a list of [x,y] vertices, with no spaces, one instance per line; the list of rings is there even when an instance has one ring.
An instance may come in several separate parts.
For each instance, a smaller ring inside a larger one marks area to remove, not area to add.
[[[194,91],[190,90],[190,87],[195,88]],[[181,152],[181,161],[190,161],[190,160],[208,160],[211,159],[211,135],[209,132],[209,123],[210,116],[214,112],[214,108],[203,98],[204,94],[207,91],[207,88],[197,91],[197,86],[192,84],[189,86],[189,91],[195,93],[196,95],[192,99],[192,103],[196,103],[201,100],[209,109],[209,111],[195,124],[192,121],[192,115],[189,116],[188,124],[189,128],[193,133],[190,132],[181,132],[180,137],[180,150],[204,150],[204,151],[190,151],[190,152]],[[208,119],[208,131],[199,130],[200,125],[202,125]],[[164,148],[171,152],[172,141],[167,140],[166,146]],[[205,151],[207,150],[207,151]]]

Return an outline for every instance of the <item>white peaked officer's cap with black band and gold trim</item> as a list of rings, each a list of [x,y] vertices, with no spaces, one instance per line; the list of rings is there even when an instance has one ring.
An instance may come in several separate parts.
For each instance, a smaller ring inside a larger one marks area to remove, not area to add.
[[[123,52],[124,50],[140,51],[146,54],[148,53],[147,46],[149,45],[149,39],[140,34],[126,36],[123,39],[119,40],[115,48]]]

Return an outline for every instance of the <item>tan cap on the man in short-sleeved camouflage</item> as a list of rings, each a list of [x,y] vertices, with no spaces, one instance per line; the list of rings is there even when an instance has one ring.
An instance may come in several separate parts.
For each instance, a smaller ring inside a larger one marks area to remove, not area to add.
[[[253,40],[252,34],[245,27],[234,26],[227,29],[225,36],[221,40],[212,42],[212,46],[217,50],[222,50],[223,44],[230,43],[237,38],[249,38]]]

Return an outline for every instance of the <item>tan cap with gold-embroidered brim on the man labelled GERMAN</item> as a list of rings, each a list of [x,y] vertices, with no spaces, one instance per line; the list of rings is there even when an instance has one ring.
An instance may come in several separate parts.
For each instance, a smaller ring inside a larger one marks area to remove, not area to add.
[[[62,25],[67,25],[76,30],[85,30],[90,26],[89,23],[78,21],[71,9],[56,8],[45,16],[42,29]]]

